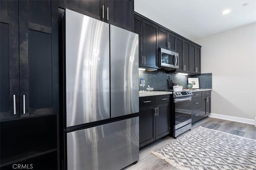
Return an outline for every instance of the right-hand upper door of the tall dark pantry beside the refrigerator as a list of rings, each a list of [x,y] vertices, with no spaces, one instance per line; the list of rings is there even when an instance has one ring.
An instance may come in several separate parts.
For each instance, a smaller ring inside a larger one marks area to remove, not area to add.
[[[57,7],[55,1],[19,1],[21,117],[58,111]]]

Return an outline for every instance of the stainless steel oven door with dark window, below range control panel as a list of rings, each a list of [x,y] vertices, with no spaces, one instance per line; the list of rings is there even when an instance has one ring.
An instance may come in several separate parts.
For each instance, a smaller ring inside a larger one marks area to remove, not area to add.
[[[175,125],[174,130],[177,130],[192,122],[191,119],[191,96],[184,98],[175,98]]]

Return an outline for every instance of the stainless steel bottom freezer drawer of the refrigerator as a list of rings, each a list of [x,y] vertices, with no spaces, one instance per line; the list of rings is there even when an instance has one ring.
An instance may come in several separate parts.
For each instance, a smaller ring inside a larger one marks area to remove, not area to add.
[[[120,170],[139,159],[139,117],[67,133],[68,170]]]

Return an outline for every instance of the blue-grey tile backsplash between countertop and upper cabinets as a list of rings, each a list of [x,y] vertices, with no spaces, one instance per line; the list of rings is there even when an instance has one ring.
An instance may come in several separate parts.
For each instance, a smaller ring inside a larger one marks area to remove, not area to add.
[[[168,90],[168,81],[167,79],[172,79],[173,83],[177,83],[179,86],[183,86],[183,88],[187,88],[188,77],[198,77],[199,78],[199,86],[200,88],[212,88],[212,73],[200,74],[199,76],[185,76],[174,73],[166,73],[165,71],[140,71],[139,70],[139,78],[143,78],[146,82],[146,87],[148,85],[153,87],[154,90]],[[146,90],[144,87],[144,90]],[[140,87],[139,87],[140,88]]]

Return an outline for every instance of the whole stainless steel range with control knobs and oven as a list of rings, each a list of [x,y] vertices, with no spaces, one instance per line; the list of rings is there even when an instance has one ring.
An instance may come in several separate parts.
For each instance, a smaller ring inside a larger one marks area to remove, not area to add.
[[[192,92],[173,92],[173,102],[175,108],[175,123],[173,137],[181,135],[192,127],[191,119],[191,99]]]

